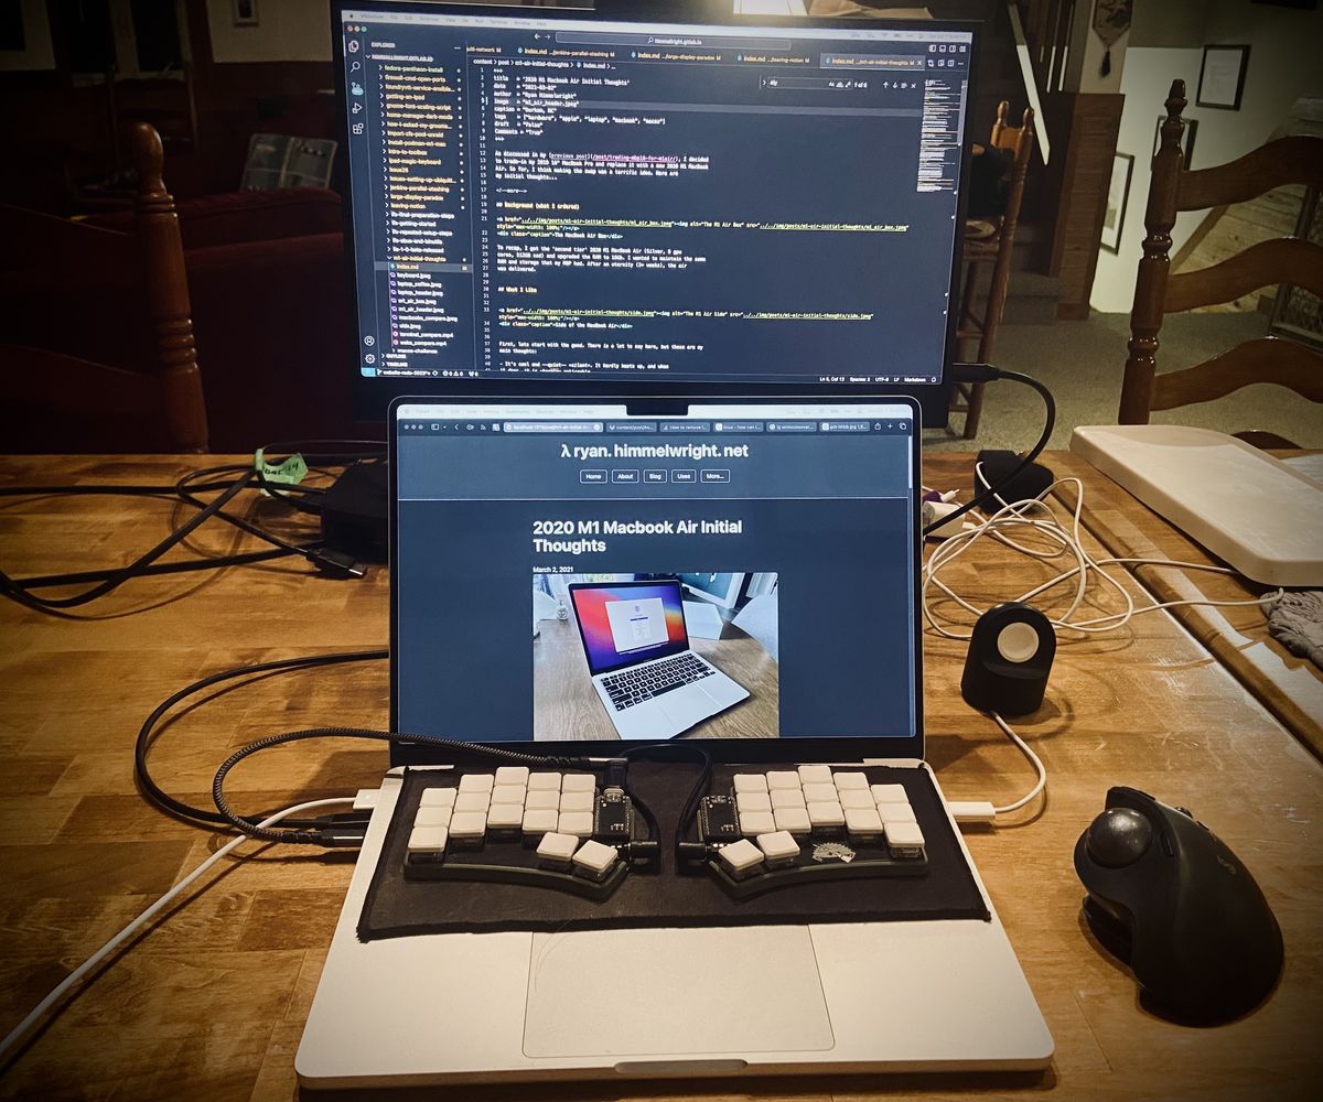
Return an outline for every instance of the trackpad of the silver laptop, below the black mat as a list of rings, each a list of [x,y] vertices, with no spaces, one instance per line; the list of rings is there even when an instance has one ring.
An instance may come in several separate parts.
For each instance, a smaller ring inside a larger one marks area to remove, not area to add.
[[[822,1052],[833,1044],[804,926],[533,935],[528,1057]]]

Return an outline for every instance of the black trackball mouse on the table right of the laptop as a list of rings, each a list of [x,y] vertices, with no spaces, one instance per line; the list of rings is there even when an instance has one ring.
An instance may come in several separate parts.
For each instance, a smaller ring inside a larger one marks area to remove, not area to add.
[[[1273,990],[1282,971],[1277,919],[1249,869],[1185,808],[1110,788],[1074,864],[1089,927],[1130,966],[1155,1011],[1228,1021]]]

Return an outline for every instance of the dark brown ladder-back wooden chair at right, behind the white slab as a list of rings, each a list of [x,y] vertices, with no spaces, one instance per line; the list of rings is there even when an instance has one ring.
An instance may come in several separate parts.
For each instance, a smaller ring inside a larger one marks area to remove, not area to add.
[[[1249,340],[1192,368],[1156,374],[1158,331],[1166,314],[1232,302],[1275,283],[1323,296],[1323,247],[1294,237],[1262,241],[1211,267],[1171,274],[1171,228],[1177,212],[1245,202],[1283,184],[1323,185],[1323,138],[1279,138],[1228,164],[1187,171],[1181,153],[1184,108],[1185,82],[1172,81],[1148,185],[1148,234],[1130,312],[1130,357],[1118,419],[1147,425],[1151,410],[1212,401],[1253,382],[1275,382],[1311,402],[1323,402],[1323,356],[1282,337]],[[1271,434],[1238,435],[1259,446],[1291,446]]]

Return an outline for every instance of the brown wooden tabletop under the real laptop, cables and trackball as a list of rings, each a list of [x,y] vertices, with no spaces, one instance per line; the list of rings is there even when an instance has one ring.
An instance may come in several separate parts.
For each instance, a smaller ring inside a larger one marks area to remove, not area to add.
[[[0,460],[9,483],[157,482],[193,459]],[[206,462],[217,462],[209,459]],[[1058,470],[1105,480],[1068,455]],[[970,458],[925,476],[964,486]],[[267,505],[266,508],[270,508]],[[0,565],[17,577],[124,561],[184,513],[168,503],[0,500]],[[194,545],[247,545],[221,527]],[[983,603],[1037,568],[988,546],[953,566]],[[1045,575],[1044,575],[1045,577]],[[1110,602],[1110,598],[1109,598]],[[1101,603],[1113,611],[1114,603]],[[213,671],[279,656],[380,647],[386,581],[336,582],[294,561],[131,583],[87,618],[0,607],[0,1029],[218,845],[135,792],[131,749],[161,699]],[[1017,796],[1020,754],[959,699],[962,643],[925,635],[929,758],[953,799]],[[205,804],[235,746],[294,726],[386,721],[384,663],[259,680],[180,716],[152,753],[171,792]],[[1043,709],[1017,728],[1050,782],[1023,826],[970,831],[983,874],[1056,1037],[1033,1076],[905,1076],[557,1086],[552,1098],[1316,1098],[1323,1082],[1323,766],[1166,614],[1057,654]],[[232,774],[241,810],[372,786],[384,749],[299,743]],[[1152,1017],[1080,918],[1070,855],[1111,783],[1192,807],[1253,869],[1282,925],[1286,972],[1242,1021],[1189,1029]],[[4,1097],[283,1099],[351,867],[344,853],[250,845],[122,951],[0,1080]],[[448,1097],[486,1097],[459,1090]],[[529,1090],[495,1091],[528,1098]]]

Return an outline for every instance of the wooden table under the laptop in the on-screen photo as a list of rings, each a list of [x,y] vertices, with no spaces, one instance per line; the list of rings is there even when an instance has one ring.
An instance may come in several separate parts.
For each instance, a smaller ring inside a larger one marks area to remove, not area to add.
[[[545,619],[533,640],[533,738],[618,738],[593,688],[578,628]],[[749,691],[749,699],[718,712],[684,733],[685,738],[766,738],[777,730],[777,661],[757,639],[726,624],[721,639],[691,638],[689,646]],[[573,734],[570,734],[573,732]]]

